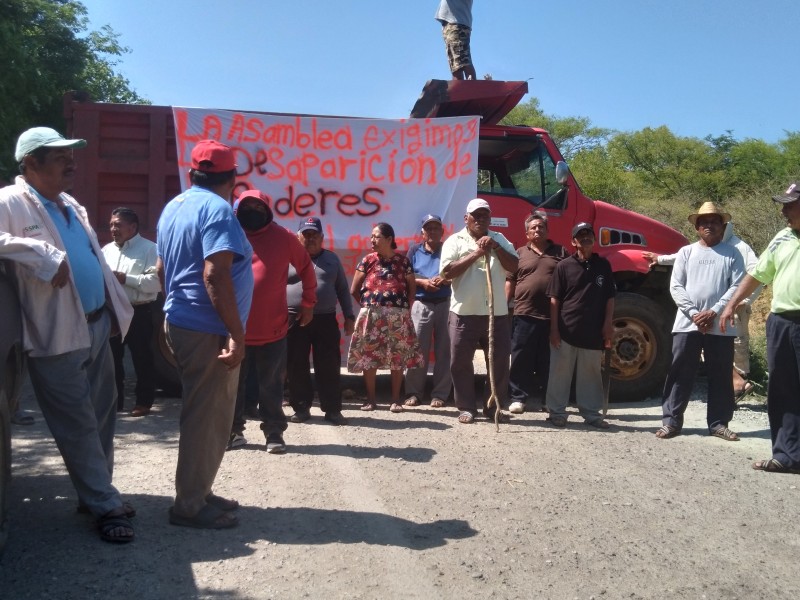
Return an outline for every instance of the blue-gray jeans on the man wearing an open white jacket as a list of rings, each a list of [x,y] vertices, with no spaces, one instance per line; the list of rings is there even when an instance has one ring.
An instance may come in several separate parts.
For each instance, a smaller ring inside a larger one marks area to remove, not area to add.
[[[119,492],[111,484],[117,393],[108,345],[108,311],[88,327],[89,348],[29,357],[28,369],[78,501],[100,517],[122,506]]]

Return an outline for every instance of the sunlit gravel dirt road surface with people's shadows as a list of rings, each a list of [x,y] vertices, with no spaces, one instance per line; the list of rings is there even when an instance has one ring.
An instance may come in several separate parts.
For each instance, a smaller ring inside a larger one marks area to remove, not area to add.
[[[700,401],[672,440],[653,435],[656,399],[612,404],[609,432],[535,413],[496,433],[452,406],[357,399],[335,427],[315,407],[283,456],[251,422],[215,488],[241,524],[200,531],[167,523],[180,402],[160,398],[119,419],[115,482],[139,514],[136,541],[112,545],[23,402],[37,422],[14,428],[3,598],[800,597],[800,477],[750,468],[770,456],[757,404],[736,412],[736,443],[707,435]]]

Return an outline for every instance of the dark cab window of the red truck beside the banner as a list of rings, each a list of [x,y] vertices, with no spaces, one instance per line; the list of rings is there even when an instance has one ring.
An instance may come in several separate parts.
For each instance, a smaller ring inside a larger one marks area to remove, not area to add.
[[[538,137],[481,138],[478,192],[520,196],[534,206],[556,194],[556,165]],[[563,208],[565,194],[548,208]]]

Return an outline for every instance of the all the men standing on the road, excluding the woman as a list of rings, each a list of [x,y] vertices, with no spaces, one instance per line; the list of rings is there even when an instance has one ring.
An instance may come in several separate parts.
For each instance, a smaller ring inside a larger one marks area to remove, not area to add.
[[[49,128],[24,132],[15,153],[20,175],[0,190],[0,258],[16,280],[28,370],[75,487],[77,510],[96,519],[103,540],[134,539],[136,510],[112,484],[115,413],[124,408],[125,348],[137,379],[131,415],[151,411],[149,344],[161,291],[166,339],[183,390],[169,521],[233,527],[239,504],[214,494],[213,484],[225,451],[246,444],[249,395],[267,451],[285,452],[287,423],[311,417],[313,356],[325,420],[347,424],[337,303],[345,334],[352,333],[355,316],[342,264],[322,247],[318,218],[290,233],[273,222],[268,199],[256,190],[232,206],[235,155],[213,140],[192,150],[192,185],[165,206],[155,244],[139,235],[134,211],[118,208],[110,220],[113,241],[101,250],[85,209],[66,193],[73,149],[85,145]],[[740,390],[728,373],[736,365],[734,340],[746,325],[735,316],[769,284],[773,456],[753,468],[800,473],[800,184],[774,200],[788,227],[757,261],[746,262],[741,240],[725,237],[731,216],[716,204],[689,216],[698,241],[674,256],[670,292],[678,310],[656,436],[681,433],[702,355],[709,433],[738,439],[728,425]],[[424,399],[433,347],[431,406],[443,407],[452,390],[460,423],[473,423],[481,409],[488,419],[498,417],[498,406],[483,406],[473,377],[475,349],[493,341],[487,368],[500,406],[512,414],[544,410],[552,426],[565,427],[574,377],[580,416],[608,429],[600,412],[601,356],[611,344],[615,287],[608,261],[595,252],[593,225],[573,227],[570,253],[548,238],[544,212],[520,224],[528,243],[517,249],[490,223],[491,207],[480,198],[469,201],[464,228],[447,239],[439,216],[422,219],[421,242],[409,248],[408,259],[417,282],[411,316],[426,364],[408,372],[405,405]],[[748,368],[740,365],[739,375]],[[289,418],[282,407],[287,372]]]

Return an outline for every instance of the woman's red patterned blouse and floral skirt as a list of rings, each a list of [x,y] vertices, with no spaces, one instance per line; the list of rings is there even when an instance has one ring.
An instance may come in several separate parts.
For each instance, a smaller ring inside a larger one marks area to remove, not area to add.
[[[402,254],[383,258],[372,252],[361,259],[356,270],[365,277],[347,370],[402,371],[423,366],[408,301],[406,276],[413,273],[408,258]]]

